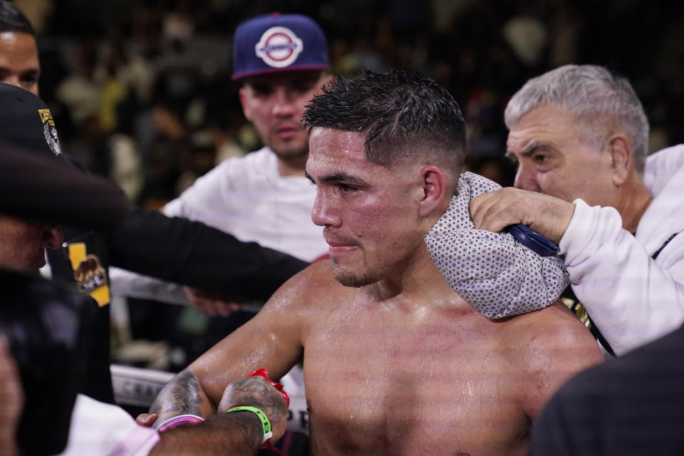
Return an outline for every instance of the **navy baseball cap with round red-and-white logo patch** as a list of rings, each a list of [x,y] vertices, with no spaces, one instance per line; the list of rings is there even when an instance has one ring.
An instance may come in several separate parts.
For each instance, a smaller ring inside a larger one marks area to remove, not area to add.
[[[327,70],[328,41],[314,19],[266,14],[244,21],[233,41],[234,80],[266,73]]]

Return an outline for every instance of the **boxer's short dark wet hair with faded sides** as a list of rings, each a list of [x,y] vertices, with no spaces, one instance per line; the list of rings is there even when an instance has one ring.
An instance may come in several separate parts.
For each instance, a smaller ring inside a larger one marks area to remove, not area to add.
[[[366,133],[366,157],[378,165],[430,153],[444,157],[457,176],[465,159],[465,120],[458,104],[417,71],[366,70],[358,78],[337,78],[306,108],[309,129]]]

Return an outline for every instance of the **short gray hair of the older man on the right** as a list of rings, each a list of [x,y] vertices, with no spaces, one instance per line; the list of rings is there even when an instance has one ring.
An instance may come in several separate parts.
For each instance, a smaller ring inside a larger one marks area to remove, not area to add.
[[[532,78],[513,95],[504,112],[509,130],[532,108],[551,105],[582,123],[583,140],[603,149],[614,133],[632,145],[634,166],[643,171],[648,152],[648,119],[626,78],[602,66],[565,65]]]

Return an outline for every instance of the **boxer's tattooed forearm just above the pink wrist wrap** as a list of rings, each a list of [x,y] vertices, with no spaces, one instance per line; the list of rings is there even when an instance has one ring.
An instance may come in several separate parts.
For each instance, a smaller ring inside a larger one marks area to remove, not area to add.
[[[185,369],[160,391],[155,402],[152,403],[150,413],[180,412],[201,416],[200,405],[202,405],[202,396],[199,394],[197,378]]]

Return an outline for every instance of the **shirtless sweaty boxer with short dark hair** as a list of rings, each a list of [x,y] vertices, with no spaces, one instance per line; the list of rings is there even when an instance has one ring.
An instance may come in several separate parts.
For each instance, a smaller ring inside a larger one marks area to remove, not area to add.
[[[423,237],[465,155],[457,104],[413,71],[368,72],[328,87],[305,120],[331,259],[286,282],[150,412],[212,415],[230,381],[303,359],[314,455],[524,454],[541,406],[601,353],[562,304],[490,321],[430,261]]]

